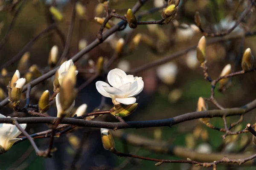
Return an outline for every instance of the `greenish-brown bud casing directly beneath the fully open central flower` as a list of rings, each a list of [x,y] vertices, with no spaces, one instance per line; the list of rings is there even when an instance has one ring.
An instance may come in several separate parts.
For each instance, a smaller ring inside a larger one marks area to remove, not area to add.
[[[115,105],[113,108],[111,108],[110,113],[113,116],[126,117],[126,116],[129,116],[131,113],[133,113],[137,107],[138,107],[138,103],[134,103],[131,105],[118,104],[118,105]]]

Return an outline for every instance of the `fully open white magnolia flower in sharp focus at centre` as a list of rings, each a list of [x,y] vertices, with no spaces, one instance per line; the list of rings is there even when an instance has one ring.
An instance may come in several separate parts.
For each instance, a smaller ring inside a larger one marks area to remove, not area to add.
[[[126,75],[124,71],[115,68],[108,73],[108,83],[98,81],[96,88],[100,94],[105,97],[110,97],[113,104],[122,103],[124,105],[134,104],[136,98],[144,87],[142,77],[134,77],[133,75]]]

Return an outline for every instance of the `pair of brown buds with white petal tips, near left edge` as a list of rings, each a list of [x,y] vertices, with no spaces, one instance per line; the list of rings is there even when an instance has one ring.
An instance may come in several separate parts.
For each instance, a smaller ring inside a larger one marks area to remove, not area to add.
[[[20,72],[16,70],[11,82],[9,82],[9,85],[7,86],[9,101],[12,102],[14,107],[20,104],[20,95],[25,83],[26,79],[20,78]]]

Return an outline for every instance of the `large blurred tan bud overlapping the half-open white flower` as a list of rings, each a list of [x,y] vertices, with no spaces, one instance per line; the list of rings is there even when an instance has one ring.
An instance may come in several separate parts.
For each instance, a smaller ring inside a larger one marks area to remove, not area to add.
[[[66,111],[76,98],[76,66],[69,68],[67,75],[63,78],[60,88],[61,108]]]

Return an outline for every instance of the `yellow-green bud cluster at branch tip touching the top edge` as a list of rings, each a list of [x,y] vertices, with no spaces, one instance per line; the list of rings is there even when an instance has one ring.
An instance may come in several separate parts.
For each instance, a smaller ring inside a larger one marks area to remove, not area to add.
[[[179,3],[180,0],[168,0],[168,6],[163,8],[161,14],[162,18],[165,19],[163,23],[167,24],[176,17]]]

